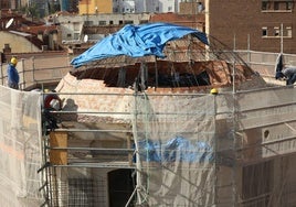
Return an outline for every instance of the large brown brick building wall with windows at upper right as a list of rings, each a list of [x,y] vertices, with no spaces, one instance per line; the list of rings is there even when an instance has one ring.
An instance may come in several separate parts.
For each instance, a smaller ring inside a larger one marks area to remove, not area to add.
[[[287,9],[288,1],[268,1],[271,4],[262,9],[264,2],[266,1],[207,0],[207,33],[231,48],[281,52],[283,42],[284,53],[295,53],[295,6]]]

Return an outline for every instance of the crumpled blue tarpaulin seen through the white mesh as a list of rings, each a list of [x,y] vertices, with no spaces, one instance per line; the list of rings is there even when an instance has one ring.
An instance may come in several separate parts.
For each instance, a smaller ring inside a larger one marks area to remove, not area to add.
[[[212,162],[213,149],[203,141],[176,137],[166,142],[144,140],[138,143],[139,154],[146,162]]]

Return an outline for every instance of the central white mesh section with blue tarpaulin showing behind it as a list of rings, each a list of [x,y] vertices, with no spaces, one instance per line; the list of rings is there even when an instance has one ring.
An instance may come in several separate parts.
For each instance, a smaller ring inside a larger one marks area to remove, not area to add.
[[[134,135],[139,203],[214,204],[214,96],[138,96]]]

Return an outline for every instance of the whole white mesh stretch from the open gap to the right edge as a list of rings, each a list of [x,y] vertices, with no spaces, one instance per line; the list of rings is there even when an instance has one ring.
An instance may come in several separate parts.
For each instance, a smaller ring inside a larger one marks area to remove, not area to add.
[[[294,206],[295,92],[137,96],[138,204]]]

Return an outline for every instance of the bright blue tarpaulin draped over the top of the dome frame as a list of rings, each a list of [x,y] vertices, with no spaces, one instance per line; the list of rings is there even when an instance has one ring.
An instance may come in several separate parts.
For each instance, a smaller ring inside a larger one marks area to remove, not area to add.
[[[192,34],[202,43],[208,44],[207,35],[203,32],[181,25],[169,23],[127,24],[73,58],[71,64],[80,67],[93,61],[118,55],[131,57],[155,55],[163,58],[162,50],[166,43],[188,34]]]

